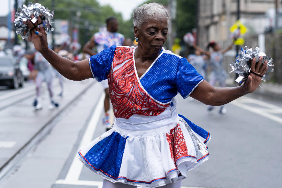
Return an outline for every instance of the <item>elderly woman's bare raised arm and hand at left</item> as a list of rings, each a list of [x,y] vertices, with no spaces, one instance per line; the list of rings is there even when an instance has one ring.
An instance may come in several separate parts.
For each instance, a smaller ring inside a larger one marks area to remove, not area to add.
[[[34,17],[34,16],[32,16]],[[80,81],[88,78],[93,78],[88,59],[79,62],[73,62],[65,57],[61,57],[56,52],[48,47],[47,35],[44,28],[38,28],[38,23],[41,19],[38,16],[36,23],[27,21],[30,31],[30,40],[33,41],[34,47],[40,52],[43,57],[64,77],[67,79]]]

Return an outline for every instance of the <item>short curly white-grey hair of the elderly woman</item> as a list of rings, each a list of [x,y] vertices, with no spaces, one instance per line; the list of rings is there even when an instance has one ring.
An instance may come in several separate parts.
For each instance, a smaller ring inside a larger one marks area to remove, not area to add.
[[[133,12],[133,24],[134,26],[140,27],[144,21],[149,18],[166,18],[169,23],[169,13],[162,4],[149,3],[143,4]]]

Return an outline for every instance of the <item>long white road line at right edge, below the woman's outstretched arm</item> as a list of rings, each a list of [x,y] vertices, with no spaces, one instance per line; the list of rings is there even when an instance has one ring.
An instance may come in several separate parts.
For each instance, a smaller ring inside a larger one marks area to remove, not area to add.
[[[244,97],[246,98],[246,97]],[[253,100],[248,100],[247,101],[253,101]],[[260,102],[260,101],[259,101]],[[253,103],[253,102],[252,102]],[[282,118],[281,117],[278,117],[278,116],[275,116],[273,114],[270,114],[270,113],[267,113],[266,111],[264,111],[263,109],[261,108],[256,108],[256,107],[251,107],[247,104],[244,104],[244,102],[240,102],[240,100],[235,100],[235,101],[232,101],[231,104],[235,105],[235,106],[239,106],[240,108],[243,108],[245,110],[248,110],[248,111],[251,111],[251,112],[254,112],[256,114],[259,114],[260,116],[264,116],[268,119],[271,119],[273,121],[276,121],[278,123],[281,123],[282,124]],[[259,104],[259,103],[254,103],[254,104]],[[278,106],[275,106],[275,105],[271,105],[271,106],[274,106],[276,108],[279,108]]]

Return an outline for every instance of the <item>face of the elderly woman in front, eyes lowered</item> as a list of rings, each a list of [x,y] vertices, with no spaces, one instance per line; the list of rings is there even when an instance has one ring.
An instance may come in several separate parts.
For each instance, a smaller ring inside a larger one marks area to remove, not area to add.
[[[146,56],[154,57],[160,54],[167,40],[167,19],[150,18],[143,22],[140,28],[134,26],[135,37],[138,37],[138,48],[142,48]]]

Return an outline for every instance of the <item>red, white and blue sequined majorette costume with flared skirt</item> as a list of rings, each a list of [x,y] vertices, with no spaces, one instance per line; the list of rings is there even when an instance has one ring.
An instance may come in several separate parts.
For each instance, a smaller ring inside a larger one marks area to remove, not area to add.
[[[78,158],[111,182],[159,187],[184,179],[208,159],[209,133],[178,115],[174,98],[177,92],[188,97],[204,79],[164,48],[138,78],[136,48],[111,46],[89,58],[93,77],[108,78],[115,122]]]

